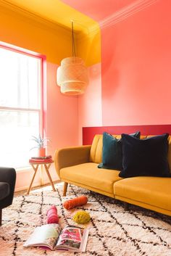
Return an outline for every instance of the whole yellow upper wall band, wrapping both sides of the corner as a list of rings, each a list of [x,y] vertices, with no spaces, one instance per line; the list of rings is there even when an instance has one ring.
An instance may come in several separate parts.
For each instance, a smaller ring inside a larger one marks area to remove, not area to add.
[[[57,65],[65,57],[72,56],[72,33],[68,28],[35,15],[30,16],[30,13],[14,7],[2,6],[1,2],[0,24],[0,41],[46,55],[47,61]],[[97,22],[93,22],[93,28],[93,31],[89,31],[83,27],[83,32],[75,33],[77,56],[82,57],[88,66],[101,62],[101,38]]]

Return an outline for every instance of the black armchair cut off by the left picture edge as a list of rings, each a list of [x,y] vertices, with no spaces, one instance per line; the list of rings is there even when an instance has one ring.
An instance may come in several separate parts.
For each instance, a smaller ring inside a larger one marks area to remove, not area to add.
[[[0,167],[0,226],[2,209],[12,205],[16,171],[14,168]]]

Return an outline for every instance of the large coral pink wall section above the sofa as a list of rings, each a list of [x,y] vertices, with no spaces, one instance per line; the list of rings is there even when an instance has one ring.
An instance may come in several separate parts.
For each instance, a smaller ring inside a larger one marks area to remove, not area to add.
[[[101,28],[103,125],[171,122],[170,9],[160,0]]]

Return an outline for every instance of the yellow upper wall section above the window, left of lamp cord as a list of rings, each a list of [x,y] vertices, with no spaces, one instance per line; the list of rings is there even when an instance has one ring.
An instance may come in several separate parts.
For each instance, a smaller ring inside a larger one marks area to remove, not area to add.
[[[1,7],[0,41],[44,54],[47,61],[59,64],[71,51],[70,31],[53,27]]]

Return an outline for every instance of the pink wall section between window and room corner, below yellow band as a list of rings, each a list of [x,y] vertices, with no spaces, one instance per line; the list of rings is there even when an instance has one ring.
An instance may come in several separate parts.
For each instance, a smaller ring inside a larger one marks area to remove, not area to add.
[[[62,146],[78,145],[78,97],[65,96],[57,86],[57,65],[47,63],[46,136],[49,154]]]

